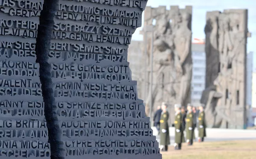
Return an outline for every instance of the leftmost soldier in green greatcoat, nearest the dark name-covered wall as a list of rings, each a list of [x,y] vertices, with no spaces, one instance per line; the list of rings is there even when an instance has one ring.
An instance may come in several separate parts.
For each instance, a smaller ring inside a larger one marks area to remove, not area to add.
[[[160,149],[162,151],[168,150],[168,145],[170,145],[170,135],[169,135],[169,113],[167,111],[167,105],[162,103],[162,113],[160,118]]]

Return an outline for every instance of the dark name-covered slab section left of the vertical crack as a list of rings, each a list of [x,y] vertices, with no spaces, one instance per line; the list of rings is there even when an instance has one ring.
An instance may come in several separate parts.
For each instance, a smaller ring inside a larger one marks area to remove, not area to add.
[[[50,159],[34,51],[42,6],[0,0],[0,159]]]

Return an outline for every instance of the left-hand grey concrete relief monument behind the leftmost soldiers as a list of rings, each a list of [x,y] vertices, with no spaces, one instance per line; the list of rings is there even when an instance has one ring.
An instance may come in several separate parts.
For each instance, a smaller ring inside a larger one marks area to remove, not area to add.
[[[191,17],[191,6],[186,6],[185,9],[171,6],[170,10],[166,10],[166,6],[146,7],[145,9],[144,25],[155,25],[153,29],[154,106],[163,101],[171,105],[175,103],[186,105],[190,102]],[[153,24],[154,21],[156,24]],[[150,59],[152,36],[148,34],[147,37],[147,59]],[[150,68],[149,62],[148,68]],[[150,94],[148,93],[146,98],[147,107],[150,104]],[[174,113],[171,110],[169,112]]]

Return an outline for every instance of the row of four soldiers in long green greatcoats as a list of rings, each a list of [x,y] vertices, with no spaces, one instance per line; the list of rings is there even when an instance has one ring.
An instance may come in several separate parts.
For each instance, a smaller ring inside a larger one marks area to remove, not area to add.
[[[160,149],[162,151],[168,150],[168,145],[170,145],[170,136],[169,136],[169,113],[167,111],[167,105],[162,103],[162,113],[160,118]],[[206,121],[204,114],[204,104],[200,104],[198,107],[198,117],[194,107],[194,111],[191,104],[187,105],[187,112],[185,107],[182,107],[181,104],[175,104],[175,139],[174,139],[174,149],[181,150],[181,145],[185,142],[184,131],[186,133],[186,142],[188,145],[193,145],[193,140],[195,139],[194,129],[197,127],[198,119],[198,142],[203,142],[206,137]]]

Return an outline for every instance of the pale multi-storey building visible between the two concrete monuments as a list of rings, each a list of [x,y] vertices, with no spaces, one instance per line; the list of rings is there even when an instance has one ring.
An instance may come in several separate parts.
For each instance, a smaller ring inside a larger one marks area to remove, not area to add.
[[[200,103],[202,92],[205,89],[206,55],[203,40],[194,39],[191,47],[193,71],[191,79],[191,103]]]

